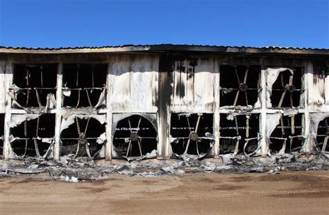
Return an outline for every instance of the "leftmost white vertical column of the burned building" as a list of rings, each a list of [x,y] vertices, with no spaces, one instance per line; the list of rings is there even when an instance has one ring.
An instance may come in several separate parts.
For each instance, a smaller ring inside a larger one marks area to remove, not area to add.
[[[5,95],[6,95],[6,105],[5,105],[5,125],[4,125],[4,141],[3,141],[3,159],[8,160],[10,157],[10,128],[8,127],[8,123],[10,122],[11,118],[11,97],[8,95],[8,91],[10,86],[12,85],[12,71],[13,69],[13,64],[11,61],[7,61],[6,64],[6,75],[5,75],[5,83],[6,83],[6,88],[4,89]]]

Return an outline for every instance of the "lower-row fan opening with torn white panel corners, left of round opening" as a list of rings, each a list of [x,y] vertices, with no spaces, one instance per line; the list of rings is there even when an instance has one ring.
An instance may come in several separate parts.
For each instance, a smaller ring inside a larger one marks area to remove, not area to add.
[[[71,115],[63,119],[60,142],[61,156],[104,158],[105,115]]]

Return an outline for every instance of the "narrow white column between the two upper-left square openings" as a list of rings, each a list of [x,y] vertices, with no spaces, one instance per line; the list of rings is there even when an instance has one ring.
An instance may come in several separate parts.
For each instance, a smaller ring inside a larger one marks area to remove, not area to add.
[[[56,127],[55,144],[53,145],[53,159],[60,159],[60,123],[62,122],[62,63],[57,67],[57,91],[56,91]]]

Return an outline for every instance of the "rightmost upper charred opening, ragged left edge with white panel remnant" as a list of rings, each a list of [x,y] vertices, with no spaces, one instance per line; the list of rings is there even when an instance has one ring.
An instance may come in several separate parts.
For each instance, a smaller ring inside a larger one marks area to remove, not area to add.
[[[294,75],[290,71],[284,71],[278,75],[278,79],[272,86],[271,104],[273,107],[303,106],[301,102],[302,76],[301,68],[294,68]]]

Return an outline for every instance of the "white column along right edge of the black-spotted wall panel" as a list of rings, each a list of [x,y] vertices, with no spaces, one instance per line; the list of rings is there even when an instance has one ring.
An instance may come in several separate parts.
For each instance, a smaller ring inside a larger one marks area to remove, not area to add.
[[[219,105],[220,105],[220,65],[217,60],[214,63],[214,158],[220,158],[219,157],[219,140],[220,140],[220,113],[219,113]]]

